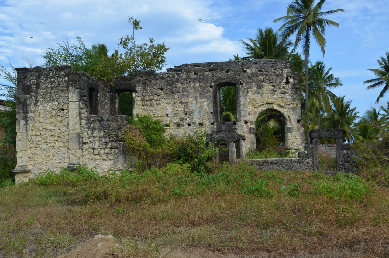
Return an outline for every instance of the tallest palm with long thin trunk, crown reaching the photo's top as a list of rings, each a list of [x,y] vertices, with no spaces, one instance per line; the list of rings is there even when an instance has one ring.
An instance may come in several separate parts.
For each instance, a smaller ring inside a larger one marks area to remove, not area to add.
[[[289,38],[296,34],[296,41],[294,42],[294,49],[302,42],[302,47],[305,55],[305,82],[308,82],[308,58],[310,49],[310,37],[312,36],[319,45],[324,56],[324,48],[326,46],[326,39],[324,34],[326,26],[339,27],[335,21],[325,19],[328,14],[336,12],[344,12],[343,9],[336,9],[331,11],[321,11],[321,8],[326,0],[320,0],[315,4],[315,0],[293,0],[287,7],[286,16],[282,16],[277,21],[285,21],[280,27],[284,38]],[[308,83],[305,87],[305,107],[308,110]],[[307,115],[307,124],[309,125],[309,117]],[[309,128],[307,130],[307,138],[309,138]]]

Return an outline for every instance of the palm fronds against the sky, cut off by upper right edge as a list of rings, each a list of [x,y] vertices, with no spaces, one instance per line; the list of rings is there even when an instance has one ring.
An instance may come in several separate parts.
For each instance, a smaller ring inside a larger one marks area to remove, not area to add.
[[[363,84],[370,84],[367,87],[368,90],[384,85],[384,88],[381,90],[380,95],[378,95],[378,98],[375,101],[376,103],[378,103],[380,98],[384,97],[384,95],[389,91],[389,52],[385,52],[385,55],[386,57],[380,57],[381,60],[377,59],[380,69],[368,69],[373,72],[377,78],[363,82]]]

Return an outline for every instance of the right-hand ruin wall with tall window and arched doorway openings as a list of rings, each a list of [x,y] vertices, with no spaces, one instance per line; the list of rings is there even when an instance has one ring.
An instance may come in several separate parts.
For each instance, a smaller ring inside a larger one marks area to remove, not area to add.
[[[244,136],[239,142],[239,154],[244,156],[255,149],[255,122],[266,109],[284,116],[286,149],[298,152],[303,148],[298,80],[299,75],[285,61],[254,60],[184,64],[163,73],[118,78],[114,84],[117,88],[136,88],[134,113],[150,114],[161,121],[166,125],[166,135],[193,133],[200,125],[209,134],[234,132]],[[223,83],[238,89],[236,123],[220,122],[217,116],[216,96],[219,87],[226,85]]]

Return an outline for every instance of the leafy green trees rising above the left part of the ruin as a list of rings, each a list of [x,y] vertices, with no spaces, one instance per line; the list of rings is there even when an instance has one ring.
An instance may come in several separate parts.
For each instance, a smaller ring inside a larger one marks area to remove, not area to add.
[[[93,44],[88,48],[81,37],[77,37],[74,44],[68,41],[58,43],[58,48],[44,49],[42,56],[46,61],[45,67],[70,65],[73,71],[83,71],[106,80],[132,74],[137,71],[161,70],[166,65],[165,54],[169,48],[165,43],[155,44],[154,39],[140,45],[135,42],[135,30],[140,30],[140,21],[129,17],[128,22],[132,25],[133,35],[120,38],[118,46],[124,49],[114,49],[112,55],[105,44]]]

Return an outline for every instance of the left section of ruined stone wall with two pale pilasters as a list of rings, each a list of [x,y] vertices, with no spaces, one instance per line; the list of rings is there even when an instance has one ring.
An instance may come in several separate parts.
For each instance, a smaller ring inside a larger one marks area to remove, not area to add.
[[[125,168],[121,129],[127,122],[90,114],[88,87],[105,88],[101,80],[68,66],[17,71],[16,184],[80,164],[100,172]],[[99,105],[109,109],[109,94],[100,93]]]

